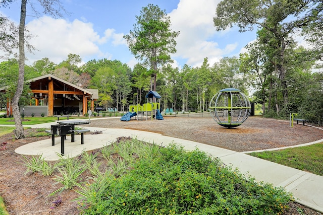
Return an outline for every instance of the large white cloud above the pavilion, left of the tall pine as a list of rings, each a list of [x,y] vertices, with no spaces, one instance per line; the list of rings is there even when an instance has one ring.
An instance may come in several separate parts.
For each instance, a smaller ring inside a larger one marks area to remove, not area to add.
[[[35,51],[35,55],[28,56],[31,62],[48,57],[51,61],[59,63],[66,59],[69,53],[81,57],[100,53],[96,45],[100,37],[94,32],[91,23],[79,20],[68,22],[45,16],[29,22],[27,29],[32,35],[37,35],[29,42],[39,49]]]

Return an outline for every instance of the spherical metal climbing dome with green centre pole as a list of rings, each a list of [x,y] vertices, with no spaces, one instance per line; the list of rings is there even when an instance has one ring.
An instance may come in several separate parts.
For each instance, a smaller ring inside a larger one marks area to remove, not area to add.
[[[241,125],[251,112],[249,99],[235,88],[220,90],[211,99],[209,109],[212,118],[227,128]]]

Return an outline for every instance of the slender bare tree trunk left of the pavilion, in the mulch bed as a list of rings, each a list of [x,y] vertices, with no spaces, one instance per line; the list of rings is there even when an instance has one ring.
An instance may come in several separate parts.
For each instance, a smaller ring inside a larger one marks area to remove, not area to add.
[[[14,134],[16,139],[25,138],[24,127],[19,112],[19,99],[24,88],[25,79],[25,21],[26,21],[26,5],[27,0],[21,1],[20,23],[19,23],[19,75],[17,90],[12,99],[12,110],[15,119],[16,129]]]

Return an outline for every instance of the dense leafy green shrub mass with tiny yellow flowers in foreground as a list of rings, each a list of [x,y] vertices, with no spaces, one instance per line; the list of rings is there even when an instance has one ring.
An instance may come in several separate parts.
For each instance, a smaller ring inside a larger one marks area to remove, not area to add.
[[[171,144],[152,151],[107,182],[83,214],[283,214],[293,200],[198,149]]]

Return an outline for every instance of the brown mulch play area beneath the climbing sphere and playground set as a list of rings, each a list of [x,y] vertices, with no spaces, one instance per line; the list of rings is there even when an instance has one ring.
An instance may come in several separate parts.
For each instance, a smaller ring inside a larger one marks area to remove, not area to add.
[[[236,152],[288,147],[323,138],[323,130],[289,121],[249,117],[242,125],[225,128],[218,125],[211,117],[174,117],[166,116],[164,120],[120,119],[91,120],[89,126],[102,128],[128,128],[161,133],[188,139],[211,146],[217,146]],[[127,134],[125,134],[127,136]]]

